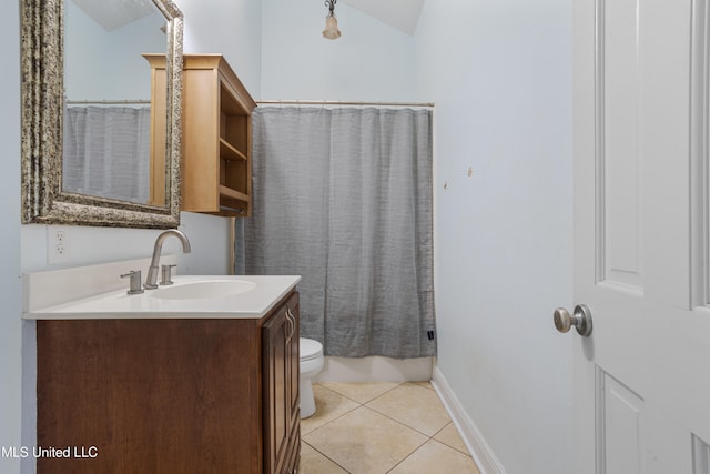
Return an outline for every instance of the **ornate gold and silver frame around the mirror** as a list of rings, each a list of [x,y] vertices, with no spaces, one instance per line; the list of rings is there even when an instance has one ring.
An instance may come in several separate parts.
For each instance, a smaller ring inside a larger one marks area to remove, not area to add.
[[[183,16],[153,0],[166,19],[164,208],[62,191],[64,0],[22,0],[22,223],[171,229],[180,224]]]

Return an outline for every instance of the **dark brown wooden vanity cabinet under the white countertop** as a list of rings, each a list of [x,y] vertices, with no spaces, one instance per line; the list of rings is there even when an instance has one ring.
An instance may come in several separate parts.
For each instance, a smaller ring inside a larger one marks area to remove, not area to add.
[[[39,473],[295,472],[297,292],[258,320],[44,320],[37,340]]]

